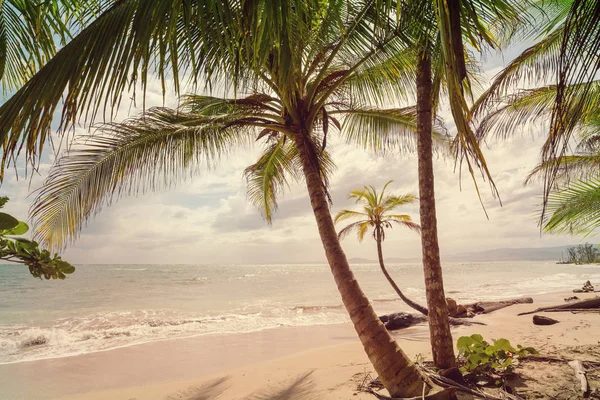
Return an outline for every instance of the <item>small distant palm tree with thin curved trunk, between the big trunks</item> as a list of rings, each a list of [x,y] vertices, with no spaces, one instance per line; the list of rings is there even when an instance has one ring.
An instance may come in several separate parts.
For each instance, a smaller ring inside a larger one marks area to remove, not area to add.
[[[403,196],[385,195],[385,189],[392,183],[389,181],[383,186],[381,193],[377,193],[374,187],[365,186],[363,189],[357,189],[350,192],[350,199],[355,199],[357,204],[362,204],[363,211],[342,210],[338,212],[334,218],[334,223],[342,222],[348,219],[360,218],[359,221],[353,222],[346,226],[338,233],[338,237],[343,239],[351,231],[356,230],[358,241],[362,242],[369,228],[373,228],[373,239],[377,243],[377,257],[381,272],[385,275],[390,285],[394,288],[398,296],[410,307],[427,315],[427,309],[420,304],[415,303],[402,293],[396,282],[392,279],[389,272],[385,268],[383,261],[382,242],[385,240],[385,229],[392,228],[395,224],[420,232],[420,226],[414,223],[409,215],[394,214],[396,208],[406,204],[412,204],[416,198],[412,194]]]

